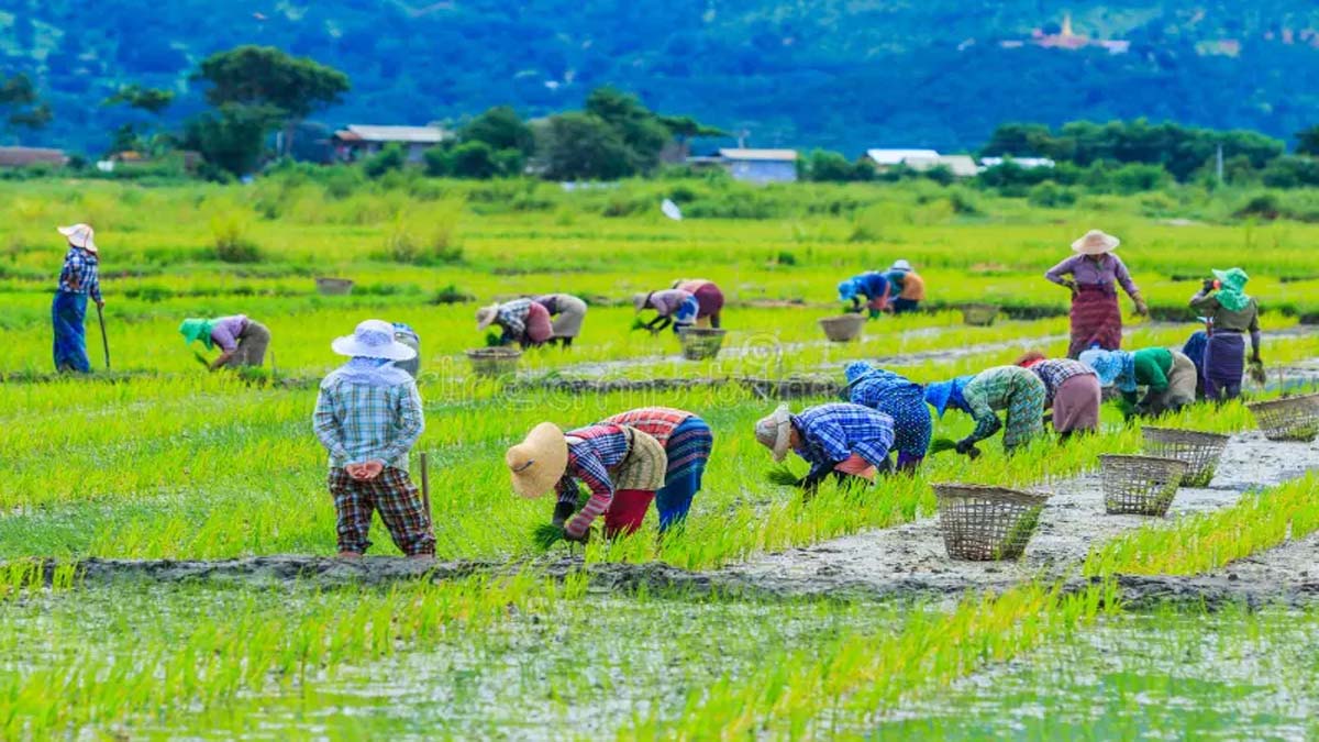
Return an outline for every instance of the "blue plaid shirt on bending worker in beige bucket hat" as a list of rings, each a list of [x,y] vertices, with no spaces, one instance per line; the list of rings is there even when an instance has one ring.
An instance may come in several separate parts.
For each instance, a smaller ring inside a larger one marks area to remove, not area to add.
[[[893,419],[868,407],[848,403],[822,404],[791,417],[802,437],[797,455],[811,465],[811,474],[831,470],[852,454],[884,467],[893,448]]]

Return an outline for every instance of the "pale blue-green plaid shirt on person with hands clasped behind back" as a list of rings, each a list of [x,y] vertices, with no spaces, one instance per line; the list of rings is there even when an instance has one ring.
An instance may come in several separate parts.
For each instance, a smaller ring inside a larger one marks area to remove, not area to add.
[[[412,382],[389,387],[332,382],[317,395],[313,422],[335,469],[383,461],[408,471],[408,452],[426,428]]]

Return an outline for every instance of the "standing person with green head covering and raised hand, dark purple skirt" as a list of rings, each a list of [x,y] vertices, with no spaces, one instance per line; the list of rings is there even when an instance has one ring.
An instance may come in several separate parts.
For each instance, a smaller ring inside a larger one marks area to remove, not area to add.
[[[1250,333],[1250,363],[1260,360],[1260,306],[1245,293],[1250,280],[1245,271],[1213,271],[1216,280],[1191,297],[1191,309],[1208,318],[1210,338],[1204,347],[1204,396],[1228,400],[1241,396],[1245,371],[1244,333]]]

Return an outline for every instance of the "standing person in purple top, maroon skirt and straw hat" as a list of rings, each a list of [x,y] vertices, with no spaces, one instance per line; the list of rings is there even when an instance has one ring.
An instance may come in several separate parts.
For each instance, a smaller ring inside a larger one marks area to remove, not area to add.
[[[1113,255],[1120,242],[1113,235],[1091,230],[1072,243],[1076,255],[1045,273],[1046,279],[1072,292],[1071,345],[1067,347],[1067,358],[1076,358],[1080,351],[1095,346],[1105,350],[1121,347],[1122,312],[1117,306],[1115,284],[1121,284],[1122,290],[1136,302],[1137,314],[1149,312],[1122,259]]]

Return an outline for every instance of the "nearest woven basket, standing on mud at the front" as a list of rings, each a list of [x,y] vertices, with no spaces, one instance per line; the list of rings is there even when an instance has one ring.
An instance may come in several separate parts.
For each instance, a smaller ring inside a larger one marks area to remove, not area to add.
[[[934,485],[934,494],[948,556],[972,561],[1021,557],[1049,499],[984,485]]]

